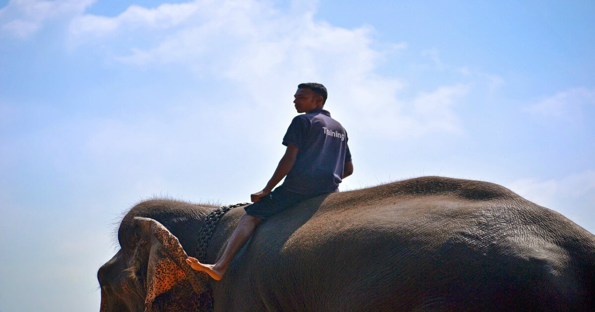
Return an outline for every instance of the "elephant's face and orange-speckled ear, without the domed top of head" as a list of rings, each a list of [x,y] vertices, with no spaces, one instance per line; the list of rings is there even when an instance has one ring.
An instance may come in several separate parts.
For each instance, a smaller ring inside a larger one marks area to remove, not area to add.
[[[204,310],[206,275],[186,264],[179,240],[154,219],[133,223],[131,237],[99,269],[101,311]]]

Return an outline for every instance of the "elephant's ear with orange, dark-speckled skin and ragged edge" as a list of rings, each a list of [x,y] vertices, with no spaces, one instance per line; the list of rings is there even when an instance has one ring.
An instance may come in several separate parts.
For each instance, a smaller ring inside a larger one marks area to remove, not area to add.
[[[151,239],[146,273],[145,311],[197,310],[208,289],[205,274],[186,263],[180,241],[154,219],[135,217],[143,237]]]

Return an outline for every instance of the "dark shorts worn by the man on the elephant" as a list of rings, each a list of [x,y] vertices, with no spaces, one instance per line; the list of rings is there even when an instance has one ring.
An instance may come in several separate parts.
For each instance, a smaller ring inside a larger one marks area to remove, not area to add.
[[[253,217],[267,219],[275,213],[295,206],[302,200],[306,200],[315,195],[305,195],[287,191],[283,185],[275,188],[267,196],[261,197],[256,203],[244,207],[246,213]]]

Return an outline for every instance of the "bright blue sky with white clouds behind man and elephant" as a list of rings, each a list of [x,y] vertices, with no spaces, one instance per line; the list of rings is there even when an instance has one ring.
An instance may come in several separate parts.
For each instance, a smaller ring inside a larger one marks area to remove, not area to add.
[[[323,83],[341,190],[440,175],[595,232],[593,1],[0,1],[0,311],[96,311],[122,213],[264,187]]]

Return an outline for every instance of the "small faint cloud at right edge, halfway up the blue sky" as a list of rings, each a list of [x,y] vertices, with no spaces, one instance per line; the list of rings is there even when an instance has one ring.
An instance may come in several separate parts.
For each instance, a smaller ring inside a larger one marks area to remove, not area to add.
[[[531,105],[527,111],[533,115],[574,123],[581,122],[584,111],[593,108],[595,89],[578,87],[546,97]]]

